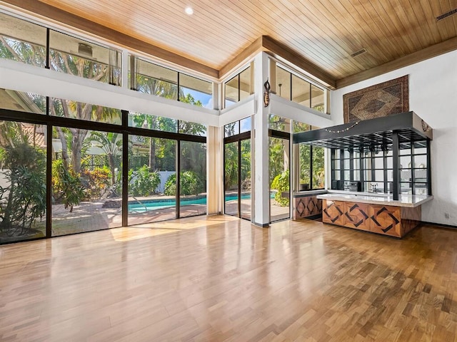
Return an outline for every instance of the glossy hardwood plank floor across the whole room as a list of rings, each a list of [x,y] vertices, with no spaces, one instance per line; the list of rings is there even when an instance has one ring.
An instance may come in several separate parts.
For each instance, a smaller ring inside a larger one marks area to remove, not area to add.
[[[194,217],[0,247],[0,341],[457,341],[457,231]]]

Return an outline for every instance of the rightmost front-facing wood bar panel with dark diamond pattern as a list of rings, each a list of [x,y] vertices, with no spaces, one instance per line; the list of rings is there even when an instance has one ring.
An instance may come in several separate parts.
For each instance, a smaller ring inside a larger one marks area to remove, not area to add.
[[[370,230],[378,234],[401,237],[400,207],[371,204]]]

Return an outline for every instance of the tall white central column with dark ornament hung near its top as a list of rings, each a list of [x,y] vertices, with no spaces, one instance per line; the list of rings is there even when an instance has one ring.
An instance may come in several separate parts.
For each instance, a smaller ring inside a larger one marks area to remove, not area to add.
[[[270,106],[263,105],[263,83],[268,78],[268,55],[259,53],[254,58],[254,89],[256,108],[253,116],[253,212],[251,221],[261,227],[270,222],[270,185],[268,180],[268,115]]]

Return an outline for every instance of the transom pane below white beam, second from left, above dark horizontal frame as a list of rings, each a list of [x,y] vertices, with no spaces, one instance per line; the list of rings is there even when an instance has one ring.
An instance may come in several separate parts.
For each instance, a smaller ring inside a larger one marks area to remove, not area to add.
[[[116,108],[104,107],[102,105],[91,105],[73,100],[51,98],[50,115],[63,118],[96,121],[99,123],[113,123],[121,125],[122,113]]]

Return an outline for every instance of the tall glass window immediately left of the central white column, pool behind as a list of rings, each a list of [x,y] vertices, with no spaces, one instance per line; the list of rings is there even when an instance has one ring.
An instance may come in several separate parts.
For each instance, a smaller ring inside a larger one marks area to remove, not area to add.
[[[224,212],[251,219],[251,118],[224,126]]]

